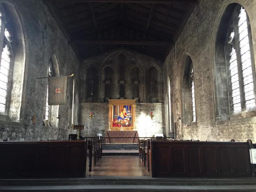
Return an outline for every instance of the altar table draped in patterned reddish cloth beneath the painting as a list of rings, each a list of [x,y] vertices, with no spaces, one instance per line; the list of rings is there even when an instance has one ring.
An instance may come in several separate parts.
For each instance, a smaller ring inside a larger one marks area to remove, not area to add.
[[[137,143],[138,131],[107,131],[108,143]],[[123,138],[120,138],[123,137]]]

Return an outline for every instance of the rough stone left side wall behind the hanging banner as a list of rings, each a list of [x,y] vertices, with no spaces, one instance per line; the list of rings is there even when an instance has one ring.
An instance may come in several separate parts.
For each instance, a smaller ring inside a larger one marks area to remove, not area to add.
[[[75,74],[76,92],[78,92],[77,72],[80,62],[44,1],[16,0],[15,2],[10,1],[10,3],[14,3],[14,9],[22,21],[22,29],[24,30],[25,62],[24,68],[19,69],[24,70],[22,74],[23,91],[20,88],[17,89],[22,93],[13,94],[13,97],[18,99],[12,99],[12,101],[17,102],[17,105],[13,105],[15,108],[12,108],[11,112],[20,112],[18,119],[14,120],[19,123],[0,121],[0,132],[3,133],[0,136],[0,141],[4,138],[10,140],[67,139],[69,93],[72,90],[72,80],[67,88],[68,102],[59,106],[58,126],[44,127],[42,124],[47,79],[37,78],[47,75],[49,60],[54,54],[58,60],[60,76]],[[16,88],[17,81],[14,82],[13,88]],[[35,125],[32,125],[33,115],[36,116]]]

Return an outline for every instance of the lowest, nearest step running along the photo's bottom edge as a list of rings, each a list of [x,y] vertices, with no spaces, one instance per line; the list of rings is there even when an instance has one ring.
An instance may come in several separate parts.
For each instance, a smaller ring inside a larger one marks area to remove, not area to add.
[[[228,186],[148,186],[148,185],[75,185],[75,186],[0,186],[1,192],[255,192],[256,185]]]

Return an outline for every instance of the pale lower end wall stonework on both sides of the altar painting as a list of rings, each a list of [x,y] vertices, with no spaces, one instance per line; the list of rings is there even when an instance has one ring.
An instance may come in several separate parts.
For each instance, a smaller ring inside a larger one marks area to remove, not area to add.
[[[154,103],[154,118],[149,116],[150,106],[148,103],[136,104],[135,129],[139,137],[151,137],[156,133],[166,135],[164,122],[163,104]],[[92,119],[89,118],[90,111],[94,113]],[[95,137],[96,133],[105,135],[108,130],[108,103],[80,103],[78,123],[84,125],[81,131],[82,136]],[[69,130],[69,133],[76,133]]]

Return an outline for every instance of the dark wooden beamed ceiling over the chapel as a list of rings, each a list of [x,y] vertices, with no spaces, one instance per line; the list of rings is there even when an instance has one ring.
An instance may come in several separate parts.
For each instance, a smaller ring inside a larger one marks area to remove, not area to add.
[[[197,0],[44,0],[81,59],[126,48],[162,61]]]

